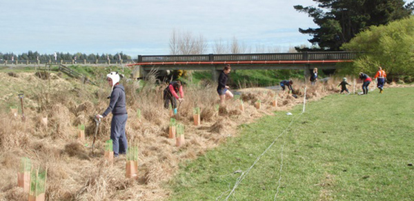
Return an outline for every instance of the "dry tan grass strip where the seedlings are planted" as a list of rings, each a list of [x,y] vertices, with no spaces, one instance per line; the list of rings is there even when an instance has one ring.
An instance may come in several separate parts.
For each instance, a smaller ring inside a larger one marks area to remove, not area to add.
[[[103,159],[103,142],[110,136],[110,118],[104,118],[99,125],[95,156],[85,146],[92,144],[96,127],[93,116],[108,105],[106,96],[110,89],[107,86],[70,87],[68,81],[54,74],[50,74],[51,80],[42,80],[33,74],[16,77],[1,74],[0,77],[42,88],[25,89],[28,92],[25,104],[31,108],[25,109],[25,122],[10,113],[0,114],[0,169],[3,171],[0,200],[27,199],[17,188],[16,179],[16,169],[23,156],[30,158],[35,166],[48,167],[46,197],[49,200],[163,200],[169,192],[162,189],[162,184],[177,171],[179,162],[196,158],[226,138],[237,135],[237,125],[271,115],[275,110],[290,109],[302,103],[304,96],[304,84],[294,81],[298,98],[268,91],[244,93],[244,112],[239,110],[239,100],[228,100],[226,106],[217,111],[215,87],[184,87],[185,101],[179,105],[176,118],[185,125],[186,145],[178,148],[175,140],[168,139],[170,117],[162,100],[166,86],[154,85],[151,80],[145,86],[124,83],[128,101],[127,138],[139,142],[139,179],[129,180],[124,176],[124,160],[115,160],[110,165]],[[57,87],[48,88],[49,81]],[[325,84],[308,86],[306,98],[317,100],[336,93],[339,82],[339,79],[331,79]],[[88,90],[95,93],[88,93]],[[271,103],[276,97],[277,107],[273,107]],[[12,96],[1,99],[9,105],[17,105],[16,100],[10,100]],[[253,105],[257,100],[262,102],[261,109]],[[193,125],[193,107],[201,108],[201,126]],[[141,110],[141,118],[137,116],[137,109]],[[48,125],[41,120],[46,116]],[[79,124],[86,127],[85,142],[77,140]]]

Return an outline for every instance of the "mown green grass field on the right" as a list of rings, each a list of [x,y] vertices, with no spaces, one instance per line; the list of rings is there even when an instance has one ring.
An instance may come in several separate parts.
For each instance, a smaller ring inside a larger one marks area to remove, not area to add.
[[[414,200],[413,94],[335,94],[242,125],[181,165],[170,200]]]

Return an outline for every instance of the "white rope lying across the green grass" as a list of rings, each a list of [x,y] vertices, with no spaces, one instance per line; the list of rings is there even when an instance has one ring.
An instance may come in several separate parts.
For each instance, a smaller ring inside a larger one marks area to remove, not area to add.
[[[305,87],[305,98],[306,98],[306,87]],[[306,104],[306,102],[304,102],[304,105]],[[256,160],[255,160],[255,162],[253,162],[253,165],[251,165],[245,172],[242,172],[242,175],[240,175],[238,178],[237,178],[237,180],[236,180],[236,182],[235,182],[235,185],[234,185],[234,187],[233,187],[233,189],[230,191],[230,193],[228,193],[228,195],[227,195],[227,197],[226,197],[226,199],[225,200],[228,200],[228,198],[230,198],[230,195],[232,195],[234,192],[235,192],[235,189],[237,189],[237,187],[239,187],[239,184],[240,183],[242,183],[242,181],[244,180],[244,178],[246,178],[246,176],[248,175],[248,173],[250,172],[250,170],[256,165],[256,163],[257,162],[259,162],[259,160],[260,160],[260,158],[262,158],[262,156],[264,156],[264,154],[266,154],[266,152],[268,151],[268,149],[270,149],[270,147],[272,147],[274,144],[275,144],[275,142],[276,142],[276,140],[277,139],[279,139],[281,136],[283,136],[283,134],[285,134],[286,133],[286,131],[289,129],[289,127],[290,127],[290,125],[292,125],[293,124],[293,122],[295,121],[295,120],[297,120],[297,119],[299,119],[301,116],[302,116],[302,114],[304,114],[304,111],[301,113],[301,114],[299,114],[299,116],[297,116],[296,118],[292,118],[292,120],[290,121],[290,123],[288,124],[288,126],[284,129],[284,131],[282,131],[282,134],[279,134],[279,136],[277,136],[276,138],[275,138],[275,140],[273,140],[273,142],[272,143],[270,143],[270,145],[263,151],[263,153],[262,154],[260,154],[257,158],[256,158]],[[285,139],[285,141],[284,141],[284,144],[286,143],[286,139]],[[277,193],[279,192],[279,187],[280,187],[280,180],[282,180],[282,169],[283,169],[283,150],[284,150],[284,145],[283,145],[283,147],[282,147],[282,151],[281,151],[281,155],[282,155],[282,160],[281,160],[281,163],[280,163],[280,173],[279,173],[279,186],[277,187]],[[228,192],[228,191],[226,191],[226,192]],[[275,194],[275,198],[276,198],[276,196],[277,196],[277,193]],[[223,195],[223,193],[221,193],[221,195],[218,197],[218,198],[216,198],[216,200],[218,200],[219,198],[221,198],[221,196]]]

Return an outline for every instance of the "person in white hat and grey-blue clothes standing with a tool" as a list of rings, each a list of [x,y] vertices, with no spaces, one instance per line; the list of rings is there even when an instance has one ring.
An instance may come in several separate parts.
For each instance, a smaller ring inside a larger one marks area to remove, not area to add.
[[[126,154],[128,149],[128,140],[126,139],[125,126],[128,114],[126,112],[126,96],[124,86],[119,84],[120,76],[118,72],[110,72],[106,75],[106,80],[112,91],[110,93],[109,106],[103,114],[98,114],[96,118],[105,118],[112,112],[112,120],[110,122],[110,139],[112,140],[112,147],[114,156],[119,154]]]

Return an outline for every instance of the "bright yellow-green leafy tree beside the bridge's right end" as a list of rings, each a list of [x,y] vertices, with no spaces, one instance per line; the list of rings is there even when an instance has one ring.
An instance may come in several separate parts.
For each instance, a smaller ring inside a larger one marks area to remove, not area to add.
[[[371,75],[382,66],[388,76],[414,76],[414,17],[371,26],[344,44],[344,50],[363,52],[345,73]]]

